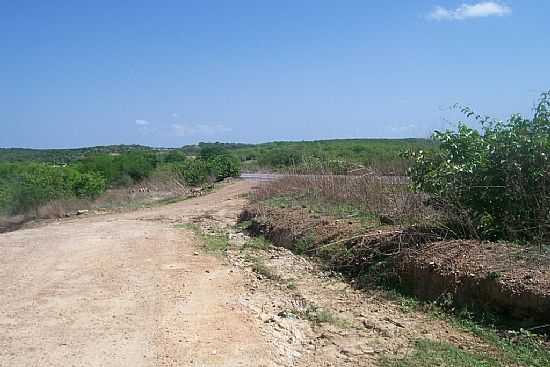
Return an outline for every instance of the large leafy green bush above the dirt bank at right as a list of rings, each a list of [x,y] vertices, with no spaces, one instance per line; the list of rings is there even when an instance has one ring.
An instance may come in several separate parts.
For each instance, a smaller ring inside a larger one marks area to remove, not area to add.
[[[475,116],[481,132],[459,124],[435,132],[438,150],[409,154],[416,189],[466,209],[484,238],[547,238],[550,225],[550,93],[532,119]],[[468,116],[473,112],[462,111]]]

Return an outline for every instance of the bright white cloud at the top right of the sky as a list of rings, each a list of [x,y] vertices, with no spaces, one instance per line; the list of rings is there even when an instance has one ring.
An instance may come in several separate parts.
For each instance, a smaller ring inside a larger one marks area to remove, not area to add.
[[[482,1],[475,4],[462,4],[456,9],[436,6],[428,15],[435,20],[465,20],[469,18],[502,17],[512,13],[512,8],[495,1]]]

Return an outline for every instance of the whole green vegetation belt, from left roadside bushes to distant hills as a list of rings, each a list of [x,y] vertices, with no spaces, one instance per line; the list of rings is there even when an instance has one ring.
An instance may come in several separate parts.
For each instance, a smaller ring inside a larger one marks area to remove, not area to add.
[[[403,173],[406,149],[430,148],[424,139],[350,139],[265,144],[199,143],[181,149],[115,145],[79,149],[0,149],[0,213],[28,212],[52,200],[93,199],[175,172],[183,184],[201,185],[248,170],[347,173],[384,167]],[[164,168],[170,168],[163,169]]]

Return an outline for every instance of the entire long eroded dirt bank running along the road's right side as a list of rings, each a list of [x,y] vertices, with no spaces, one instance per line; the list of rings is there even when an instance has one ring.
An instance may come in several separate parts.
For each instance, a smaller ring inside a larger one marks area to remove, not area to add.
[[[505,315],[522,325],[550,321],[550,258],[506,243],[444,241],[420,228],[365,230],[353,220],[306,208],[252,207],[241,213],[253,232],[320,257],[350,275],[376,273],[416,296]]]

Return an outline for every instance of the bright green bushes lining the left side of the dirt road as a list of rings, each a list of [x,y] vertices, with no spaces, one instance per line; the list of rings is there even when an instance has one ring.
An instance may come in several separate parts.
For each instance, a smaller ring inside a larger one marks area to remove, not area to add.
[[[49,156],[50,152],[45,154]],[[176,150],[159,153],[134,149],[123,153],[94,151],[63,165],[32,161],[0,163],[0,214],[32,212],[54,200],[93,200],[107,188],[128,187],[153,174],[168,178],[166,172],[172,172],[173,177],[187,185],[202,185],[240,174],[239,161],[225,151],[206,154],[188,158]]]

